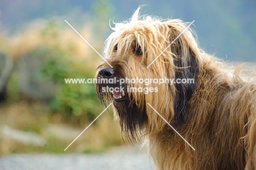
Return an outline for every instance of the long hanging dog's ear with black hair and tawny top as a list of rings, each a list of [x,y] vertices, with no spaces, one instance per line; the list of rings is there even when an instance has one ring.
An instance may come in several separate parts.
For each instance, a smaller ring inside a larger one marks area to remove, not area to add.
[[[176,96],[174,101],[174,119],[176,126],[180,127],[187,116],[188,102],[196,90],[199,49],[190,29],[183,32],[185,25],[182,21],[174,20],[173,23],[168,23],[168,27],[170,28],[170,43],[174,41],[171,45],[171,52],[176,66],[175,79],[181,82],[175,84]]]

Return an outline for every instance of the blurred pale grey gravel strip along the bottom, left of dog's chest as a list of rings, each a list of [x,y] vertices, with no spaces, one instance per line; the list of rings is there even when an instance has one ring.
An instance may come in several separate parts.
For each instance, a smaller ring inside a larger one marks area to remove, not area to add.
[[[17,154],[0,156],[0,169],[150,170],[154,169],[154,163],[146,154]]]

